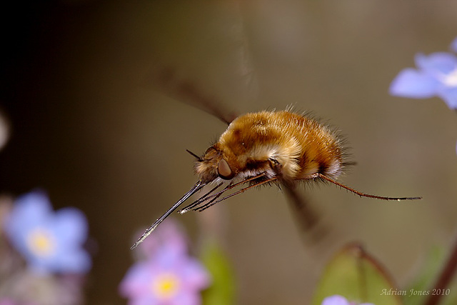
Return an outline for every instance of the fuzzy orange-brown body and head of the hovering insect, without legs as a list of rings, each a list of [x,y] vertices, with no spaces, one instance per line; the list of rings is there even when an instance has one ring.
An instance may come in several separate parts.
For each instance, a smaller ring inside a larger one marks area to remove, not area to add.
[[[336,178],[343,166],[341,139],[328,126],[290,111],[261,111],[233,120],[195,169],[204,182],[261,173],[293,181]]]

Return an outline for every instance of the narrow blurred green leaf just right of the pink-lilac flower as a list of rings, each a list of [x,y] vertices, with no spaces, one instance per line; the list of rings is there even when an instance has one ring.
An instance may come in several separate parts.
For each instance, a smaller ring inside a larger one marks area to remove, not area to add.
[[[211,286],[203,291],[203,304],[235,304],[235,281],[229,259],[216,241],[206,241],[201,261],[211,274]]]

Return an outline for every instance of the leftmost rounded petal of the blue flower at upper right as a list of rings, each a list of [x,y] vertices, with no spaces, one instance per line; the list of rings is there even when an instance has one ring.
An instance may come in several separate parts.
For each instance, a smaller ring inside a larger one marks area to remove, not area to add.
[[[434,96],[439,82],[433,76],[415,69],[404,69],[393,79],[389,92],[395,96],[426,99]]]

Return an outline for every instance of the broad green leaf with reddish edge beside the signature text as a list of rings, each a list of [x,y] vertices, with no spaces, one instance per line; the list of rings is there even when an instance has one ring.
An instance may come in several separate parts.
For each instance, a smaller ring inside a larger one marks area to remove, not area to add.
[[[321,305],[327,296],[339,294],[348,301],[376,305],[402,304],[401,294],[383,266],[359,244],[344,247],[327,264],[312,304]]]

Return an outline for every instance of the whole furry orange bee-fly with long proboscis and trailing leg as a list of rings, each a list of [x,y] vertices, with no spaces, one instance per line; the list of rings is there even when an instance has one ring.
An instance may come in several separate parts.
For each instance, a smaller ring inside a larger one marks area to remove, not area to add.
[[[157,219],[131,249],[144,241],[184,201],[210,183],[215,185],[213,189],[179,213],[203,211],[254,186],[291,185],[296,181],[328,181],[358,196],[374,199],[421,199],[365,194],[336,181],[350,164],[346,161],[341,137],[315,119],[291,111],[261,111],[238,116],[203,156],[191,154],[196,157],[194,169],[199,181]],[[224,181],[229,183],[218,190]],[[236,190],[237,186],[240,189]],[[226,193],[232,189],[236,191]]]

